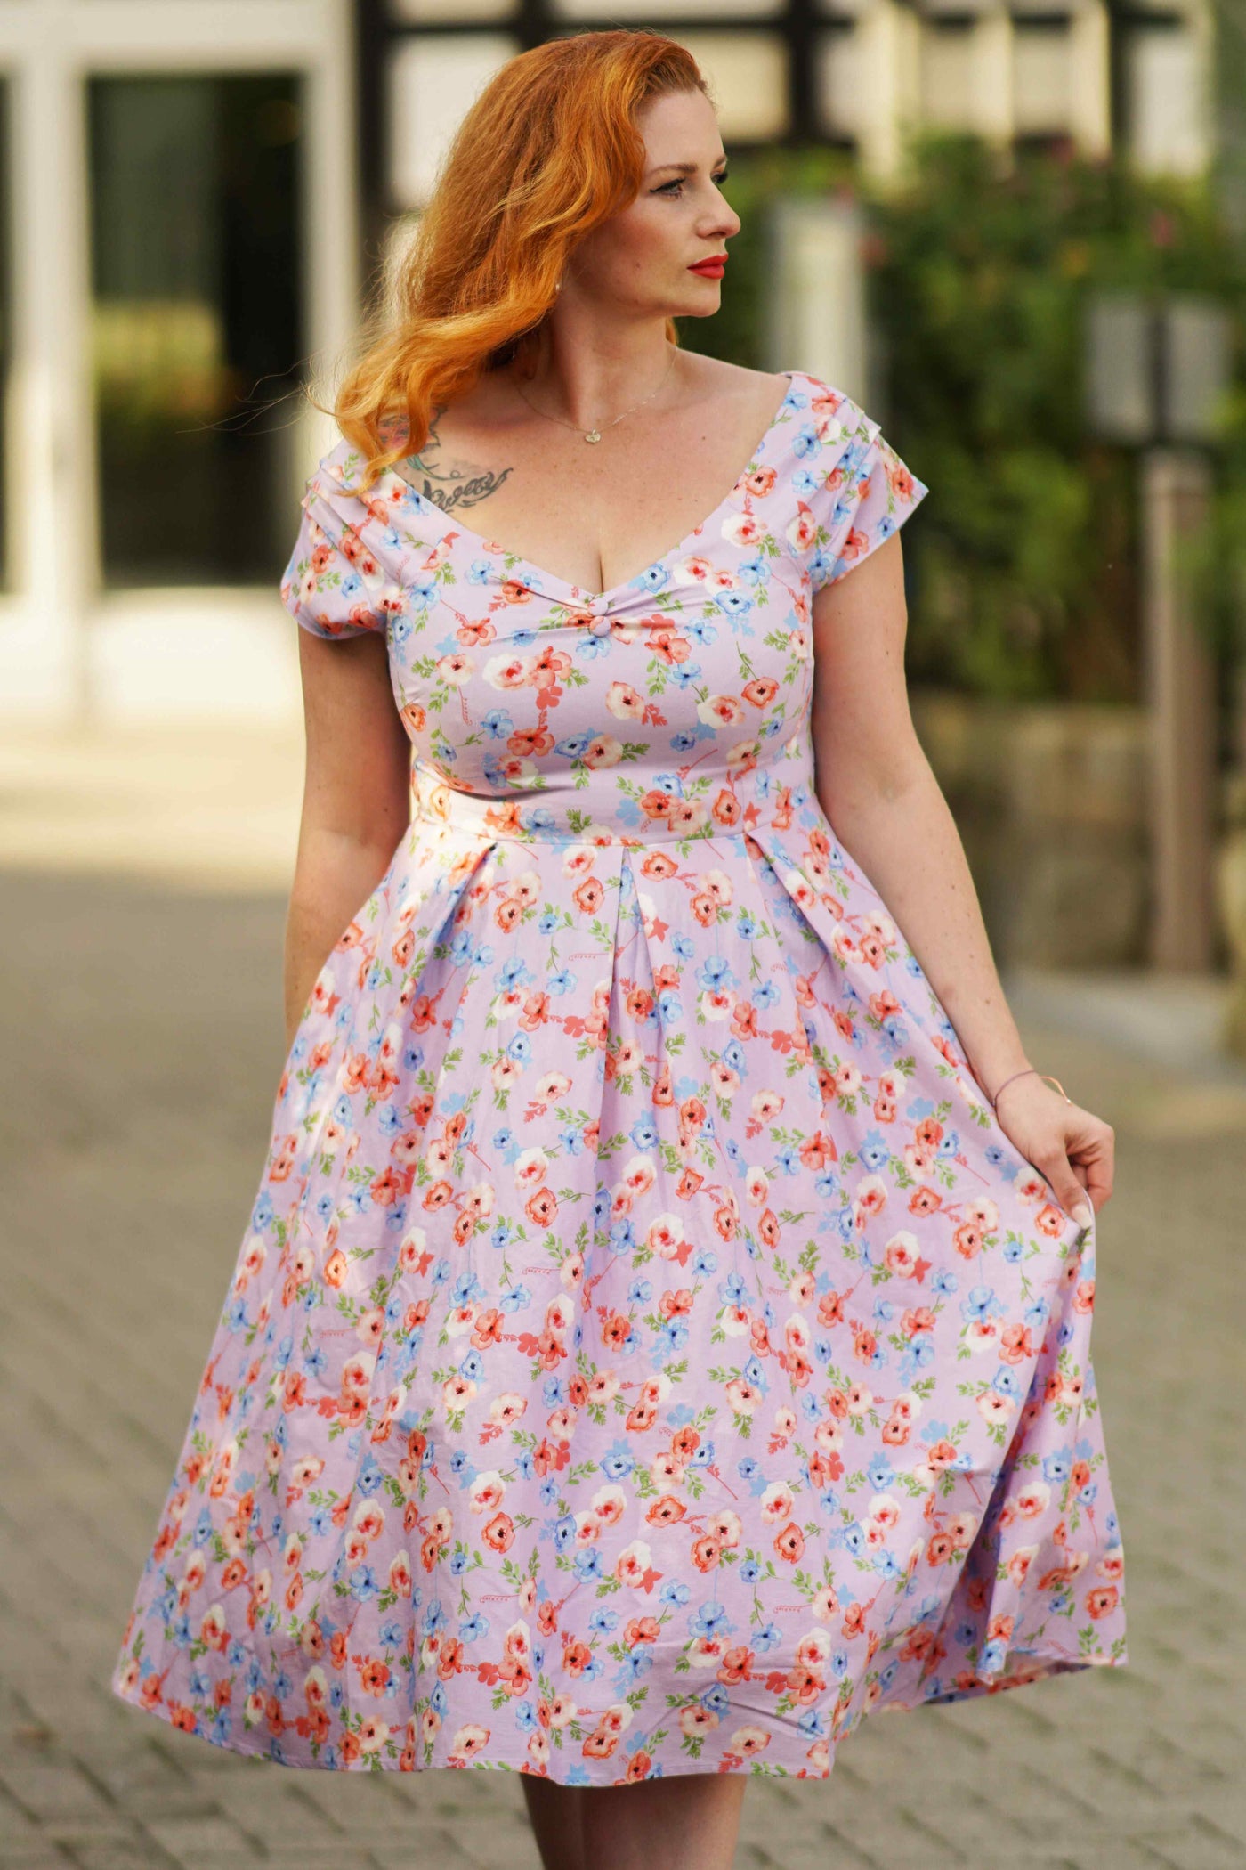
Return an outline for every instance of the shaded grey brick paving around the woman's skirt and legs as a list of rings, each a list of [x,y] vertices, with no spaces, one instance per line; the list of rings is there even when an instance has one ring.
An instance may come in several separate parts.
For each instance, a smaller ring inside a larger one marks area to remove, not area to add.
[[[291,1773],[110,1696],[262,1167],[284,903],[54,870],[0,898],[0,1866],[531,1870],[514,1780]],[[1020,1002],[1121,1135],[1095,1369],[1130,1668],[867,1720],[828,1784],[749,1786],[738,1870],[1246,1866],[1246,1079]]]

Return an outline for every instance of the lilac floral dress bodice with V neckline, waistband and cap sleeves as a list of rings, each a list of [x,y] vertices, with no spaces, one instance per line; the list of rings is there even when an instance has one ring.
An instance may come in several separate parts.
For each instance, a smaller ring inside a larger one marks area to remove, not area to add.
[[[542,570],[344,441],[304,499],[286,597],[383,628],[417,813],[517,838],[743,834],[813,793],[811,606],[925,486],[801,372],[732,490],[602,593]],[[303,570],[301,570],[303,567]]]

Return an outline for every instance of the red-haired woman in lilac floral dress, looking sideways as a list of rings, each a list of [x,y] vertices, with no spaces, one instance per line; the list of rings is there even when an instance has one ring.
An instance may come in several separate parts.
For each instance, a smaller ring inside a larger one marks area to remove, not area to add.
[[[674,342],[725,172],[673,41],[525,52],[342,389],[290,1057],[114,1677],[291,1765],[519,1769],[559,1870],[727,1864],[743,1776],[867,1711],[1126,1661],[1111,1131],[913,739],[925,484]]]

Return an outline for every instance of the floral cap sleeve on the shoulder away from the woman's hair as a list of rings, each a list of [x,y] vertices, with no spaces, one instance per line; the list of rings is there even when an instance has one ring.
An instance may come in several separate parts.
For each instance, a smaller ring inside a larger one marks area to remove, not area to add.
[[[930,488],[852,396],[829,383],[811,389],[807,445],[794,484],[805,568],[816,593],[891,539]]]

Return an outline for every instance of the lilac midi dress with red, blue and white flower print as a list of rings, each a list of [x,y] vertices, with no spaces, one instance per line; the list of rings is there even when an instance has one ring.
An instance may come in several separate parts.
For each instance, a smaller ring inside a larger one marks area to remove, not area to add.
[[[927,488],[800,370],[583,591],[338,443],[282,585],[415,815],[325,961],[112,1687],[288,1765],[822,1778],[1123,1664],[1095,1229],[813,784],[813,595]]]

